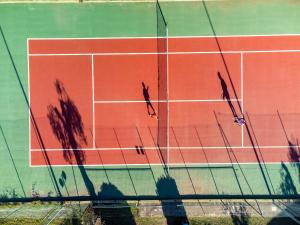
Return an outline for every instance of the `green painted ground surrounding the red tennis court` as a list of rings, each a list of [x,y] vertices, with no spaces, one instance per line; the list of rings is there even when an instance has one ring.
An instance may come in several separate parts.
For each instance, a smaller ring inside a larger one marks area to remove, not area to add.
[[[296,1],[217,1],[206,7],[217,35],[299,33],[300,4]],[[170,35],[213,35],[202,2],[162,3]],[[0,37],[0,196],[56,196],[51,171],[64,196],[178,194],[297,194],[298,165],[234,168],[171,169],[160,167],[103,170],[78,167],[30,168],[27,93],[27,38],[156,36],[153,3],[0,4],[0,25],[15,69]],[[20,78],[21,84],[18,82]],[[27,96],[22,93],[21,86]],[[16,167],[15,167],[15,166]],[[66,183],[59,179],[66,173]],[[109,177],[107,180],[106,174]],[[245,179],[246,178],[246,179]],[[85,182],[84,182],[85,180]],[[191,185],[191,180],[193,185]],[[91,182],[89,182],[91,181]],[[110,182],[110,183],[109,183]],[[267,188],[268,187],[268,188]]]

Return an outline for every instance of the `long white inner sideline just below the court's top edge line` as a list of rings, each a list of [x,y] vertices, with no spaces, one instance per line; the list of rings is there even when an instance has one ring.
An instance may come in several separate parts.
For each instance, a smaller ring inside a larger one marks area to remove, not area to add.
[[[236,50],[236,51],[222,51],[224,54],[253,54],[253,53],[292,53],[300,52],[300,49],[274,49],[274,50]],[[194,54],[220,54],[220,51],[182,51],[182,52],[168,52],[168,55],[194,55]],[[122,56],[122,55],[162,55],[166,52],[107,52],[107,53],[31,53],[29,56]]]

